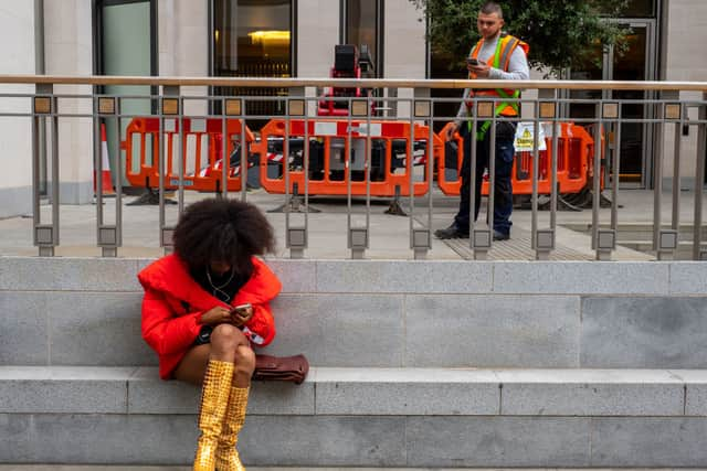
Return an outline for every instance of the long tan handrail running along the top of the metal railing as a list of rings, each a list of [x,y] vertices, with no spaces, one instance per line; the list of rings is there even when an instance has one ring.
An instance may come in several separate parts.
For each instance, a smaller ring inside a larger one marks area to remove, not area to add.
[[[0,84],[162,85],[221,87],[360,87],[360,88],[498,88],[508,81],[408,78],[275,78],[275,77],[152,77],[116,75],[0,74]],[[514,81],[514,88],[682,90],[707,93],[707,82],[658,81]]]

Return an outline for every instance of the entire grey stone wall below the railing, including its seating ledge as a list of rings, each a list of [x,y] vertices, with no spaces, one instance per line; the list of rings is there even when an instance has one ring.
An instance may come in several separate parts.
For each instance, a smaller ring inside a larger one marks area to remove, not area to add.
[[[0,257],[0,462],[193,459],[198,389],[138,367],[149,261]],[[267,351],[313,368],[254,383],[249,465],[707,463],[707,264],[267,263]]]

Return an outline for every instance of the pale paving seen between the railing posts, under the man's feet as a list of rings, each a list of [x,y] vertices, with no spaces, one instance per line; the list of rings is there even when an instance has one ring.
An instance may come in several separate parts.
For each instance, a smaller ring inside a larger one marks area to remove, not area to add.
[[[184,204],[212,196],[211,193],[184,192]],[[241,197],[241,193],[234,195]],[[664,215],[671,214],[672,202],[669,193],[664,193],[662,210]],[[118,249],[120,257],[159,257],[163,250],[159,246],[159,208],[157,206],[130,206],[127,203],[135,197],[127,196],[123,201],[123,246]],[[310,199],[312,207],[320,210],[320,213],[268,212],[286,201],[285,195],[271,195],[264,190],[247,192],[246,200],[266,212],[266,217],[275,228],[277,248],[275,258],[289,257],[289,250],[285,245],[286,221],[291,226],[307,226],[308,247],[305,249],[306,258],[315,259],[342,259],[351,258],[351,250],[347,245],[347,231],[351,227],[369,225],[369,247],[365,258],[369,259],[412,259],[414,253],[410,248],[410,228],[429,228],[434,232],[446,227],[457,211],[458,199],[443,195],[439,189],[433,189],[432,215],[428,207],[428,197],[419,197],[414,203],[414,211],[410,211],[408,199],[402,199],[402,205],[408,211],[409,217],[386,214],[384,211],[390,199],[373,199],[369,206],[365,199],[354,199],[351,205],[342,197]],[[621,190],[619,193],[618,221],[622,224],[652,224],[653,192],[647,190]],[[115,215],[115,199],[104,201],[104,214],[106,224],[113,224]],[[694,217],[694,194],[680,193],[680,222],[689,224]],[[704,205],[707,206],[707,195]],[[350,207],[350,208],[349,208]],[[51,206],[42,204],[42,221],[51,221]],[[350,215],[349,215],[350,211]],[[485,206],[482,212],[485,211]],[[178,220],[177,205],[167,205],[165,208],[167,225],[173,225]],[[479,221],[484,213],[479,216]],[[489,259],[514,260],[535,259],[535,251],[530,248],[530,228],[532,227],[532,212],[516,208],[513,214],[514,231],[511,239],[494,244],[489,253]],[[611,221],[611,210],[601,208],[599,212],[600,224]],[[550,259],[589,260],[595,258],[595,251],[591,248],[591,237],[587,228],[592,221],[591,210],[580,212],[558,212],[556,227],[557,249]],[[538,213],[538,227],[549,226],[549,213]],[[583,229],[580,229],[583,227]],[[34,256],[38,248],[32,245],[32,218],[9,217],[0,220],[0,255]],[[56,248],[57,256],[88,256],[99,257],[102,251],[96,247],[96,206],[95,204],[62,205],[60,218],[61,245]],[[646,236],[644,242],[650,242]],[[439,240],[431,238],[431,248],[426,254],[428,259],[461,260],[472,259],[473,254],[468,249],[468,239]],[[630,246],[623,246],[619,239],[616,249],[612,253],[615,260],[646,260],[655,259],[655,254],[636,251]]]

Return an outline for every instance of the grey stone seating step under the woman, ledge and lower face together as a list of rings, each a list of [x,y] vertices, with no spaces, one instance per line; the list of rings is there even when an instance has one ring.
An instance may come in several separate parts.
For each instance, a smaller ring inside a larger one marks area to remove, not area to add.
[[[705,371],[319,367],[254,383],[239,448],[262,467],[698,468],[706,389]],[[0,462],[184,465],[198,398],[154,367],[3,366]]]

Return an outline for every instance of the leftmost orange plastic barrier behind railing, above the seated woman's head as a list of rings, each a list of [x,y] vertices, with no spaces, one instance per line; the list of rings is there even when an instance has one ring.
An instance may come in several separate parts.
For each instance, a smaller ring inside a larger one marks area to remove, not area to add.
[[[223,165],[223,120],[182,118],[182,141],[179,144],[178,119],[166,119],[162,131],[167,150],[165,162],[165,189],[179,186],[179,156],[182,154],[182,179],[184,190],[221,191]],[[242,122],[226,119],[229,170],[226,188],[241,190],[241,137]],[[245,128],[246,148],[254,141],[253,133]],[[134,118],[127,127],[126,139],[120,143],[125,150],[126,176],[133,186],[159,188],[159,118]]]

